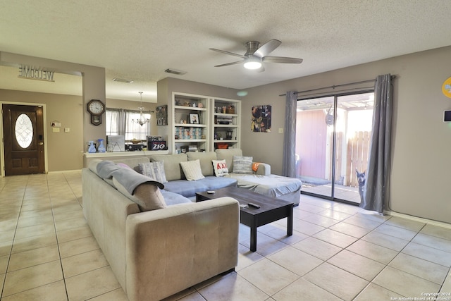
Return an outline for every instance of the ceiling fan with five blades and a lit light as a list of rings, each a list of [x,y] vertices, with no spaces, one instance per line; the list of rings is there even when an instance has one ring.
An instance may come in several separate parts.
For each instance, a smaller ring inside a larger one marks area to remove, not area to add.
[[[234,61],[232,63],[223,63],[215,67],[223,67],[235,65],[237,63],[244,63],[245,68],[264,71],[262,63],[302,63],[302,59],[288,58],[285,56],[268,56],[274,49],[280,46],[282,42],[278,39],[270,39],[268,42],[260,46],[258,41],[249,41],[245,43],[246,53],[244,55],[234,54],[233,52],[224,51],[220,49],[210,48],[210,50],[221,52],[221,54],[229,54],[230,56],[238,56],[242,61]]]

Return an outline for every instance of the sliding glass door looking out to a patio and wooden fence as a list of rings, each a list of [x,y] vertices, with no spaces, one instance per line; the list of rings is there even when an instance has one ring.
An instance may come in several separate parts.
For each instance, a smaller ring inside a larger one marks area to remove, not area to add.
[[[296,170],[303,193],[360,202],[373,99],[373,92],[360,92],[298,100]]]

